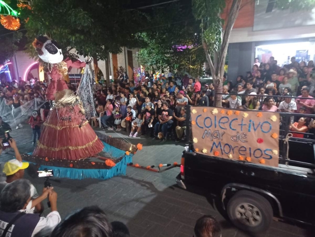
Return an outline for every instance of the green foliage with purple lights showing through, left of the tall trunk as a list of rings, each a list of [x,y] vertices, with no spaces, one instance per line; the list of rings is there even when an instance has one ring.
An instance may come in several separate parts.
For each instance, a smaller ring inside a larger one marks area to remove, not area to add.
[[[163,14],[160,14],[161,10]],[[206,59],[191,1],[168,4],[148,18],[148,24],[153,27],[137,34],[143,42],[138,52],[140,64],[150,69],[170,68],[197,75]]]

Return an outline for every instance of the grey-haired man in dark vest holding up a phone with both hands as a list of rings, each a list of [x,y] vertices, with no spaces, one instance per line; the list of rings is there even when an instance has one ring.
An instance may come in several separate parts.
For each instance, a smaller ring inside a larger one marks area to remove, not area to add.
[[[0,194],[0,233],[10,237],[45,237],[49,236],[60,223],[57,211],[57,193],[53,188],[46,188],[43,195],[48,196],[51,212],[47,217],[26,213],[26,206],[31,200],[31,182],[18,179],[9,183]],[[10,226],[11,225],[11,226]],[[4,233],[3,233],[4,232]]]

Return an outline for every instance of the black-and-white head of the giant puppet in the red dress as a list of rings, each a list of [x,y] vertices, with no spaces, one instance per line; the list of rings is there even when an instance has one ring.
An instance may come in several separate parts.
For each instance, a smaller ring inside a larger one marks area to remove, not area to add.
[[[63,61],[63,53],[56,41],[45,35],[40,35],[32,45],[38,53],[38,57],[45,63],[58,64]]]

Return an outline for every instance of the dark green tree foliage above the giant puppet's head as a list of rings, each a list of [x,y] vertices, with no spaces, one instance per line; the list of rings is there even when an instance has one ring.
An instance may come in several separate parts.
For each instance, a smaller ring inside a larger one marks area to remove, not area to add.
[[[63,49],[75,48],[80,55],[104,60],[109,52],[120,53],[122,46],[137,46],[134,36],[145,17],[129,11],[128,4],[128,0],[32,0],[32,9],[22,9],[21,17],[28,19],[30,43],[47,34]]]

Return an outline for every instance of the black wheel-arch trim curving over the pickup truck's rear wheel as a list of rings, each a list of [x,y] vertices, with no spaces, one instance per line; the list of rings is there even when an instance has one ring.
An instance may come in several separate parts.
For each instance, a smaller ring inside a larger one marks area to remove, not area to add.
[[[229,183],[229,184],[226,184],[222,190],[221,190],[221,204],[222,204],[222,208],[224,210],[225,209],[225,205],[224,205],[224,199],[226,198],[226,190],[228,188],[235,188],[235,189],[239,189],[239,190],[249,190],[249,191],[254,191],[256,193],[260,193],[260,194],[264,194],[270,198],[272,198],[278,205],[278,210],[279,210],[279,216],[280,217],[283,217],[283,211],[282,211],[282,206],[281,206],[281,203],[279,202],[279,200],[273,195],[271,194],[270,192],[267,192],[263,189],[259,189],[259,188],[255,188],[255,187],[252,187],[252,186],[249,186],[249,185],[245,185],[245,184],[240,184],[240,183]]]

